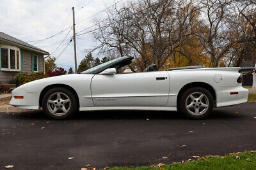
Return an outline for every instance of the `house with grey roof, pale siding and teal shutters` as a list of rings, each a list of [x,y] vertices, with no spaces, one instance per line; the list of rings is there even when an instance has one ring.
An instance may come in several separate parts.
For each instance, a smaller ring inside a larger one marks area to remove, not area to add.
[[[0,32],[0,84],[19,73],[44,72],[44,55],[49,52]]]

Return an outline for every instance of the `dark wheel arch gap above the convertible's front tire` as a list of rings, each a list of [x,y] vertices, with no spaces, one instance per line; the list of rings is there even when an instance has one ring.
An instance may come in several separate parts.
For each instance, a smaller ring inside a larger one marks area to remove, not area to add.
[[[55,87],[63,87],[65,89],[68,89],[70,91],[72,91],[73,94],[75,94],[75,97],[77,99],[77,107],[79,108],[79,97],[77,95],[77,92],[75,89],[73,89],[72,87],[70,87],[69,85],[65,85],[65,84],[52,84],[52,85],[47,85],[41,92],[40,92],[40,97],[39,97],[39,108],[42,107],[42,100],[44,97],[45,92],[47,92],[47,90],[55,88]]]

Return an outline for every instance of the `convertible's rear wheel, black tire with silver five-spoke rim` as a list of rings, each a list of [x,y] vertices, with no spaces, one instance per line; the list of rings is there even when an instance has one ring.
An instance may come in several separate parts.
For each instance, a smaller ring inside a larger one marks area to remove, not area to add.
[[[199,96],[204,94],[202,100],[200,100]],[[194,100],[192,98],[195,97]],[[196,100],[198,99],[198,100]],[[187,89],[182,96],[180,97],[180,101],[178,101],[178,110],[186,117],[191,119],[202,119],[207,118],[211,115],[212,110],[214,108],[214,99],[212,97],[211,92],[209,90],[204,89],[202,87],[192,87]],[[194,105],[195,104],[195,105]],[[205,105],[204,105],[205,104]],[[187,109],[188,106],[188,109]],[[208,106],[208,108],[207,108]],[[196,110],[198,110],[196,112]]]

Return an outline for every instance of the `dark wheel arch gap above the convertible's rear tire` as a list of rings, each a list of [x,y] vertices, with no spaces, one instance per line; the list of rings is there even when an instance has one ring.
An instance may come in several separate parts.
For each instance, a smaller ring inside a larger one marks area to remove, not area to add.
[[[216,103],[216,91],[214,90],[214,88],[211,85],[209,85],[208,83],[204,83],[204,82],[192,82],[192,83],[188,83],[188,84],[184,85],[180,89],[178,96],[177,96],[177,104],[179,104],[181,94],[191,87],[203,87],[203,88],[209,90],[209,92],[212,94],[212,97],[214,99],[214,104]]]

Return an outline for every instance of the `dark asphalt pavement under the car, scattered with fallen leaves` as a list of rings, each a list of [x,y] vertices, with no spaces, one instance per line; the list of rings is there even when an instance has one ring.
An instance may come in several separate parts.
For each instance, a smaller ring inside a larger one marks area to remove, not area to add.
[[[256,103],[218,108],[207,120],[166,111],[81,112],[66,121],[47,120],[41,111],[0,113],[0,169],[136,167],[252,150],[253,117]]]

